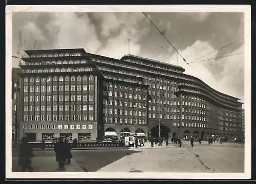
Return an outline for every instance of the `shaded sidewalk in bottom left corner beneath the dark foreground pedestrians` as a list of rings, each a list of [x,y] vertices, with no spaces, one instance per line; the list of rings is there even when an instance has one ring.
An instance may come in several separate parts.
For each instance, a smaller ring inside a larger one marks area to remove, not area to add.
[[[40,157],[32,158],[31,166],[34,168],[33,172],[87,172],[81,166],[71,159],[70,165],[66,165],[66,171],[58,170],[58,163],[55,157]],[[12,157],[12,172],[21,172],[21,167],[18,165],[18,157]]]

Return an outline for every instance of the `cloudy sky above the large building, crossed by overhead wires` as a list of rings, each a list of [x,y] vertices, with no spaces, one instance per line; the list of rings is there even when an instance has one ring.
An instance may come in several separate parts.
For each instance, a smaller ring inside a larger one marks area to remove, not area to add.
[[[146,13],[181,55],[191,62],[233,41],[243,39],[243,13]],[[12,52],[84,48],[120,59],[128,54],[178,64],[222,93],[244,101],[244,55],[191,63],[188,66],[141,12],[15,12]],[[240,54],[244,41],[199,60]],[[177,59],[178,58],[178,59]],[[198,61],[199,61],[198,60]],[[13,67],[18,66],[13,58]]]

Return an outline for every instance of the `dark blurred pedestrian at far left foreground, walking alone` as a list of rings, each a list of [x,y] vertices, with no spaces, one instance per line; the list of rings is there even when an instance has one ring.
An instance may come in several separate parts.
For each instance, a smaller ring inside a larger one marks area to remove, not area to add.
[[[22,144],[19,146],[18,165],[22,167],[22,172],[25,172],[27,169],[32,172],[31,158],[34,156],[32,147],[25,137],[22,138],[21,142]]]

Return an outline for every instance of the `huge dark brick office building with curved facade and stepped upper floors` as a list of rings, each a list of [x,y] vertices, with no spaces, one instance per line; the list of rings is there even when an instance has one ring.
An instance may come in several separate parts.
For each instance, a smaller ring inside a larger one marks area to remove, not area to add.
[[[184,68],[125,55],[113,59],[83,49],[25,51],[22,111],[25,136],[102,139],[104,131],[161,137],[239,135],[241,103]]]

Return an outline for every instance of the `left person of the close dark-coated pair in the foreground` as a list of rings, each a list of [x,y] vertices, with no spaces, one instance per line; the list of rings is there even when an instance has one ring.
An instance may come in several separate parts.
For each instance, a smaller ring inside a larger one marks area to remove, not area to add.
[[[66,143],[63,142],[62,138],[60,138],[59,142],[54,145],[54,151],[56,153],[56,161],[59,164],[59,170],[66,170],[64,165],[68,157],[68,150]]]

